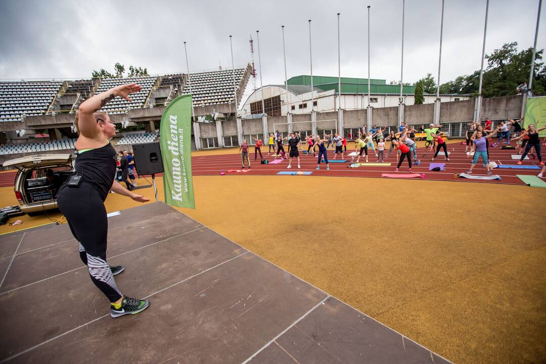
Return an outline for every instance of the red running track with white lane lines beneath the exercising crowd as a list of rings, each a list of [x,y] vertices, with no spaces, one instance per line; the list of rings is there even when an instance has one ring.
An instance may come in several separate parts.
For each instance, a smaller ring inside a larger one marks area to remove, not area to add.
[[[539,170],[529,169],[494,169],[493,172],[496,175],[501,176],[502,180],[468,180],[466,178],[454,178],[454,174],[460,174],[466,172],[470,168],[471,158],[467,158],[465,154],[465,146],[459,143],[448,144],[448,151],[451,153],[449,156],[450,162],[446,162],[443,156],[438,156],[435,163],[446,163],[445,171],[429,171],[430,158],[434,155],[428,151],[425,151],[424,147],[417,149],[418,158],[421,159],[420,165],[413,166],[413,172],[419,174],[425,174],[426,180],[436,181],[458,181],[458,182],[479,182],[479,183],[501,183],[501,184],[520,184],[524,183],[516,177],[516,175],[538,175]],[[253,152],[253,151],[252,151]],[[348,152],[353,152],[348,150]],[[426,152],[426,156],[423,154]],[[489,156],[490,160],[497,164],[516,164],[518,161],[511,159],[511,154],[517,154],[517,150],[502,150],[500,148],[490,148]],[[268,156],[264,153],[264,157]],[[259,156],[258,156],[259,157]],[[266,157],[270,161],[274,158],[271,156]],[[331,150],[328,151],[328,158],[333,159],[334,154]],[[350,158],[345,158],[350,159]],[[375,162],[375,154],[373,151],[368,157],[370,163]],[[365,162],[365,158],[360,158],[360,162]],[[337,176],[337,177],[379,177],[383,173],[393,173],[396,168],[396,157],[392,153],[389,158],[385,158],[385,162],[391,163],[390,166],[360,166],[359,168],[347,168],[349,163],[330,163],[330,170],[326,170],[324,163],[321,163],[321,169],[315,170],[317,166],[317,158],[307,156],[300,152],[300,165],[301,169],[298,169],[295,164],[290,171],[312,171],[311,176]],[[536,165],[538,166],[538,159],[525,160],[524,165]],[[227,175],[276,175],[277,172],[287,171],[288,160],[283,160],[279,164],[260,164],[259,159],[254,162],[254,155],[251,153],[251,167],[252,169],[246,173],[234,172],[226,173]],[[192,157],[192,171],[194,176],[207,176],[207,175],[219,175],[222,171],[227,172],[230,169],[241,169],[241,155],[240,154],[218,154],[215,156],[199,156]],[[400,167],[401,172],[407,173],[408,165],[407,161]],[[16,171],[0,173],[0,187],[14,186]],[[485,168],[481,164],[481,159],[473,170],[473,175],[485,176]],[[161,174],[156,175],[161,177]],[[422,178],[416,178],[422,180]]]

